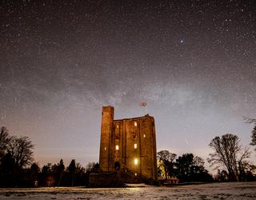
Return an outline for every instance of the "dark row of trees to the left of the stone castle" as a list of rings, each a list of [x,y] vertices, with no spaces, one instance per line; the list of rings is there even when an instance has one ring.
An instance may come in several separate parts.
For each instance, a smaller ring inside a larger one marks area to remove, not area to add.
[[[6,127],[0,129],[0,186],[86,186],[89,174],[98,170],[98,163],[86,167],[75,160],[64,166],[63,160],[42,169],[34,162],[34,145],[28,137],[11,136]]]

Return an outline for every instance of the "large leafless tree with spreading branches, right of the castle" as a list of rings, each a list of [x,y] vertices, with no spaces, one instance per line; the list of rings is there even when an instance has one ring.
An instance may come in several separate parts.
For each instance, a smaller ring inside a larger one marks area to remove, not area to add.
[[[241,165],[250,157],[250,151],[246,149],[242,152],[238,136],[234,134],[224,134],[221,138],[217,136],[212,139],[209,146],[214,150],[214,154],[210,154],[208,158],[211,166],[226,166],[230,180],[239,181],[239,163]]]

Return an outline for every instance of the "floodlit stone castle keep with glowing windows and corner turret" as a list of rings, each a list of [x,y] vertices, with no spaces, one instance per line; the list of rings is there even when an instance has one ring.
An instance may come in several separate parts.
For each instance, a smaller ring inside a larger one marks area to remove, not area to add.
[[[121,174],[122,181],[157,180],[154,118],[114,120],[114,107],[102,107],[99,166],[104,174]],[[123,180],[129,175],[127,180]],[[134,178],[133,178],[134,177]]]

